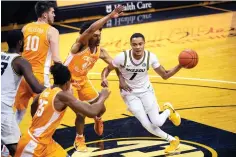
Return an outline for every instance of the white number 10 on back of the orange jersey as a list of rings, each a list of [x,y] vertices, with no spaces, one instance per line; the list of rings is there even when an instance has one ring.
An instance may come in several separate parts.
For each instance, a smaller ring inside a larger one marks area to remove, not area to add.
[[[38,51],[39,48],[39,37],[34,36],[28,36],[27,37],[27,43],[26,43],[26,51]]]

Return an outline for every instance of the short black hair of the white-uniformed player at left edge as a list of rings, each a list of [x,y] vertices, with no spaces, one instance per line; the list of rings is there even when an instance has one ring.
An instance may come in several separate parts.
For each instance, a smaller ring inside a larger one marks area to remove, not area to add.
[[[19,41],[23,41],[24,35],[20,30],[12,30],[8,32],[7,44],[9,48],[16,48]]]

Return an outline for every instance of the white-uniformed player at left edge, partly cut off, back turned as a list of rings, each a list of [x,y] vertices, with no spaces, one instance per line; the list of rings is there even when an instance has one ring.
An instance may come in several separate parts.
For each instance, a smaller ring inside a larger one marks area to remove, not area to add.
[[[7,37],[9,49],[1,52],[1,144],[8,148],[11,156],[14,156],[20,139],[20,129],[12,105],[22,76],[33,92],[40,93],[44,89],[33,75],[30,63],[20,56],[23,39],[21,31],[10,31]]]

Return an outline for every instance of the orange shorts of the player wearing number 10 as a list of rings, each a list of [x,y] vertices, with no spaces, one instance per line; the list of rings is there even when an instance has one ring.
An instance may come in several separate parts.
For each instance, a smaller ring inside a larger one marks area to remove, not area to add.
[[[43,74],[34,74],[40,84],[43,84],[45,87],[50,86],[49,75]],[[32,89],[28,83],[23,78],[20,82],[19,88],[16,93],[14,107],[17,110],[24,110],[28,107],[30,98],[35,97],[37,94],[33,93]]]

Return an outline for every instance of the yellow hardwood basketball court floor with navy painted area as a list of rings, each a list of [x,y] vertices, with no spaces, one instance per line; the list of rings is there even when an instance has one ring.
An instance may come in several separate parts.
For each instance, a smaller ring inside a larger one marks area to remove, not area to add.
[[[69,22],[57,23],[57,26],[73,30],[60,35],[60,54],[65,59],[79,33]],[[130,49],[129,38],[135,32],[144,34],[146,49],[155,53],[166,69],[178,64],[178,55],[184,49],[193,49],[199,56],[195,68],[181,69],[168,80],[162,80],[152,69],[149,71],[160,108],[163,103],[171,102],[182,117],[179,127],[173,126],[169,120],[162,127],[181,139],[180,149],[171,156],[235,157],[236,13],[223,10],[217,14],[105,28],[101,46],[114,57],[122,50]],[[89,73],[97,90],[101,90],[100,73],[105,66],[99,60]],[[93,130],[93,119],[86,119],[87,153],[75,152],[73,148],[75,114],[70,109],[67,109],[54,139],[72,157],[169,156],[163,152],[168,143],[147,132],[127,111],[118,87],[118,79],[112,73],[102,137]],[[28,109],[20,124],[21,131],[25,132],[30,123]]]

